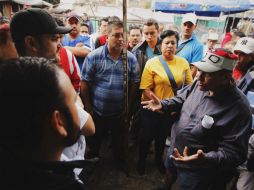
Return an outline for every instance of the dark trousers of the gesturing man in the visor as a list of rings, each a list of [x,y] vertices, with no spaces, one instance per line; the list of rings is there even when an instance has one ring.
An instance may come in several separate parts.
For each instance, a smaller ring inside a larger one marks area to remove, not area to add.
[[[177,168],[177,181],[180,190],[225,190],[227,183],[233,176],[234,171]]]

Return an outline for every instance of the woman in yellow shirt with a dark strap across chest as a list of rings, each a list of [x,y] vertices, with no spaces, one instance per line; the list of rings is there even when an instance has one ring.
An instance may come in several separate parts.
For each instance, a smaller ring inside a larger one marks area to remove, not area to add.
[[[192,82],[189,63],[182,57],[175,55],[179,36],[175,31],[166,30],[161,35],[162,58],[173,74],[178,88]],[[140,89],[143,90],[142,101],[150,100],[151,93],[160,99],[174,96],[174,91],[168,75],[161,63],[159,56],[149,59],[145,65]],[[155,161],[158,170],[165,172],[163,164],[163,150],[168,131],[170,130],[171,119],[169,115],[155,113],[143,109],[141,112],[142,128],[139,141],[138,173],[145,173],[146,157],[152,140],[155,140]]]

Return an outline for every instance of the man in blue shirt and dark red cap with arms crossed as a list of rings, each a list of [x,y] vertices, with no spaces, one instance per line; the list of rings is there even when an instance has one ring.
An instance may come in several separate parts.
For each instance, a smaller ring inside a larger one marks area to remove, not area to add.
[[[91,51],[91,45],[89,36],[80,35],[80,20],[81,18],[74,13],[67,18],[67,25],[72,31],[64,36],[62,43],[75,55],[81,70],[85,57]]]

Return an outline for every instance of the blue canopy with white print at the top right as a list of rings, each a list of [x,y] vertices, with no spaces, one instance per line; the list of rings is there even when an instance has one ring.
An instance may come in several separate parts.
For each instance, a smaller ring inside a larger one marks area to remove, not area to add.
[[[155,0],[154,10],[185,14],[195,12],[198,16],[219,17],[251,9],[249,0]]]

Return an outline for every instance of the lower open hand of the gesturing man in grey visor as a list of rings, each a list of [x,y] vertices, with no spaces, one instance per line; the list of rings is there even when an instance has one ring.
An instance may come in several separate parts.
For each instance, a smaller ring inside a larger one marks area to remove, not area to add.
[[[184,147],[183,155],[181,155],[177,148],[174,148],[173,155],[170,155],[170,158],[174,159],[178,163],[187,163],[191,161],[196,161],[204,158],[205,154],[202,150],[198,150],[196,154],[188,156],[188,148]]]

